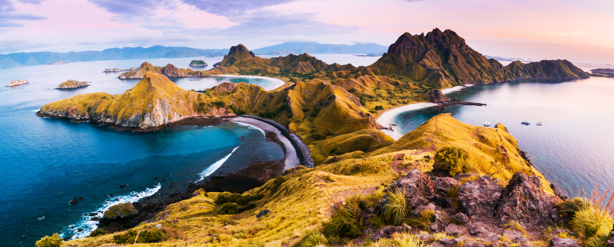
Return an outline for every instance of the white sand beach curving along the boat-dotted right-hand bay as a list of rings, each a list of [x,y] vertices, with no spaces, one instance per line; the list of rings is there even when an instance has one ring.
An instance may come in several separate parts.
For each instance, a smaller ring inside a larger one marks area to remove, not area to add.
[[[465,86],[469,87],[471,85],[465,85]],[[464,88],[464,86],[456,86],[453,88],[446,88],[444,90],[441,90],[441,92],[443,92],[443,94],[446,95],[450,92],[462,90],[462,88]],[[421,103],[416,103],[416,104],[406,104],[404,106],[390,108],[390,109],[387,109],[382,114],[380,114],[380,116],[378,117],[378,119],[376,119],[376,121],[380,123],[380,125],[383,127],[392,128],[392,131],[390,129],[382,129],[381,131],[385,133],[386,135],[390,136],[392,139],[399,140],[400,138],[402,138],[404,133],[401,133],[398,126],[392,125],[394,124],[392,123],[392,121],[395,119],[395,117],[398,114],[401,114],[403,112],[417,110],[417,109],[423,109],[427,107],[434,107],[435,105],[437,104],[421,102]]]

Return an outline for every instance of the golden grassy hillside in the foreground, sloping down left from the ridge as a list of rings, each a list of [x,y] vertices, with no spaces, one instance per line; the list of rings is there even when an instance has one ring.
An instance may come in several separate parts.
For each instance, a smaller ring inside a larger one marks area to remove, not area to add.
[[[360,133],[373,135],[368,131]],[[381,138],[385,139],[385,136]],[[349,140],[340,135],[320,145],[343,141]],[[313,169],[291,169],[286,175],[243,193],[243,196],[263,195],[253,202],[253,209],[245,212],[228,214],[223,204],[215,203],[220,193],[198,191],[193,198],[169,205],[150,222],[136,227],[136,231],[140,231],[155,229],[156,224],[161,224],[166,232],[159,243],[136,246],[288,246],[321,229],[335,203],[351,196],[371,198],[375,202],[384,195],[384,186],[390,185],[404,171],[414,168],[431,171],[433,162],[425,161],[424,157],[433,157],[436,150],[449,146],[469,152],[469,163],[478,174],[483,174],[484,161],[499,159],[502,155],[497,151],[499,147],[507,152],[503,155],[510,157],[510,171],[524,171],[543,178],[538,171],[527,167],[526,161],[518,155],[516,140],[505,131],[505,127],[469,126],[443,114],[388,147],[373,151],[367,148],[365,152],[337,156]],[[395,163],[399,154],[404,157]],[[495,176],[507,181],[507,174],[505,171]],[[543,187],[546,189],[546,184]],[[257,218],[261,210],[270,210],[270,213]],[[100,246],[114,243],[113,236],[119,234],[125,233],[76,239],[69,243]]]

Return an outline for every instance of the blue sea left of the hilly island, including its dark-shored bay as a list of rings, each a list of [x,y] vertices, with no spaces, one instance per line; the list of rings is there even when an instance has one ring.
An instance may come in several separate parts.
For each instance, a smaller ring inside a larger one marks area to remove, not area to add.
[[[156,66],[186,68],[192,59],[214,64],[222,58],[150,59]],[[119,94],[138,80],[119,80],[105,68],[130,68],[143,61],[92,61],[0,70],[0,246],[34,246],[42,236],[86,236],[94,222],[83,214],[146,195],[175,193],[205,175],[243,169],[245,160],[284,157],[281,147],[265,142],[258,129],[235,123],[214,127],[184,126],[152,133],[115,131],[94,123],[71,123],[35,115],[42,105],[86,92]],[[183,66],[182,66],[183,65]],[[77,90],[54,90],[68,79],[91,82]],[[231,78],[266,86],[270,80]],[[176,83],[205,89],[228,81]],[[158,179],[154,179],[157,176]],[[167,181],[162,181],[167,178]],[[119,185],[128,184],[125,188]],[[170,185],[173,184],[173,188]],[[113,196],[109,196],[113,194]],[[82,197],[75,205],[68,202]],[[116,202],[116,199],[118,200]],[[42,218],[44,217],[44,219]],[[39,219],[40,218],[40,219]],[[71,229],[74,226],[74,229]],[[76,232],[78,228],[82,232]]]

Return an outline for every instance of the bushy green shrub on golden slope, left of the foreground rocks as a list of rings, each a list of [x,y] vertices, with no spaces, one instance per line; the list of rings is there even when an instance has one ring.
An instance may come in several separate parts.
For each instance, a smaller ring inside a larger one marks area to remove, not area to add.
[[[324,233],[327,236],[339,236],[342,238],[353,238],[362,234],[363,211],[359,207],[359,202],[354,198],[347,198],[346,205],[337,203],[335,210],[332,210],[330,219],[324,223]]]

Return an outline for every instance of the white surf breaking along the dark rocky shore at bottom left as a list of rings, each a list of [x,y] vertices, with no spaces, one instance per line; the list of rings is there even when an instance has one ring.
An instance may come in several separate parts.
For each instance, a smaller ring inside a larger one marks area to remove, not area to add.
[[[158,183],[157,186],[155,186],[154,188],[147,188],[145,189],[145,191],[140,191],[140,192],[133,191],[130,193],[130,195],[120,195],[120,196],[115,196],[107,200],[104,200],[104,204],[102,205],[102,207],[98,208],[95,211],[97,215],[95,216],[82,215],[81,217],[83,217],[83,219],[80,222],[78,222],[77,224],[71,224],[70,226],[68,226],[68,229],[64,233],[62,233],[60,236],[64,237],[66,233],[74,234],[71,239],[81,239],[81,238],[90,236],[92,231],[98,228],[98,222],[93,221],[92,220],[93,217],[102,218],[104,217],[104,211],[107,211],[109,207],[113,205],[118,205],[119,203],[136,203],[141,198],[146,198],[148,196],[154,195],[155,193],[159,191],[160,188],[162,188],[162,186]],[[77,232],[78,229],[83,229],[83,231]]]

